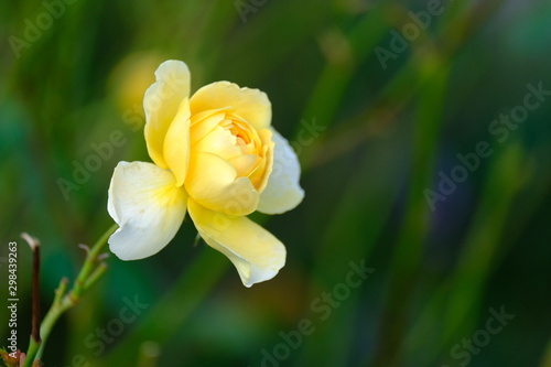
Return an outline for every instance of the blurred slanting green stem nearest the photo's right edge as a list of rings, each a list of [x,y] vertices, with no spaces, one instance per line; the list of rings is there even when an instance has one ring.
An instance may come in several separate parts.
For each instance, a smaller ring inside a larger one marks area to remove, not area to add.
[[[488,277],[497,265],[510,205],[522,177],[521,150],[514,144],[497,156],[487,175],[482,202],[465,238],[455,272],[428,302],[408,335],[408,353],[422,365],[433,365],[464,335],[472,332]],[[440,315],[440,316],[439,316]],[[439,331],[430,348],[423,335]]]

